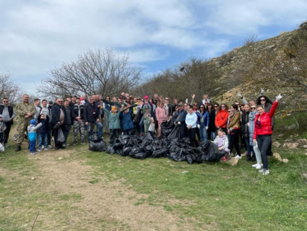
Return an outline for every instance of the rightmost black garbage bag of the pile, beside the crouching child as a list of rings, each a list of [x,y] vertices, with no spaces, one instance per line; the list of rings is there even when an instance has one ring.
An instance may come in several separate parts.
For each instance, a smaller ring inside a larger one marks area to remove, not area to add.
[[[201,152],[200,161],[217,161],[225,155],[225,152],[218,150],[217,145],[211,141],[202,142],[197,149]]]

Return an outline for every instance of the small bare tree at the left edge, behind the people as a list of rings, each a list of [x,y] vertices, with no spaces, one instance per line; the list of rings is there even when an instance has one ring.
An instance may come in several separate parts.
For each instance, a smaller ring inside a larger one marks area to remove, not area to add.
[[[21,88],[11,80],[13,75],[10,73],[0,73],[0,98],[9,98],[11,103],[20,99]]]

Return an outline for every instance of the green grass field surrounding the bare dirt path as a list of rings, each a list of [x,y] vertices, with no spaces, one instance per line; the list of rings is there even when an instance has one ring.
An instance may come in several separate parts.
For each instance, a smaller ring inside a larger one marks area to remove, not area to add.
[[[278,134],[275,139],[286,139]],[[306,138],[305,134],[299,137]],[[189,165],[167,158],[139,160],[86,148],[80,144],[69,146],[65,151],[69,154],[63,154],[62,159],[55,157],[54,163],[77,161],[92,169],[86,173],[87,184],[82,187],[121,182],[116,197],[123,195],[122,188],[132,190],[140,195],[128,197],[133,207],[162,208],[169,216],[178,218],[176,229],[168,230],[185,230],[188,222],[191,230],[306,230],[307,181],[302,175],[307,173],[307,156],[303,148],[274,148],[273,152],[288,158],[289,163],[271,157],[268,176],[251,167],[253,163],[247,162],[246,157],[236,166],[225,162]],[[50,151],[50,155],[55,152]],[[39,179],[46,174],[40,164],[44,158],[34,158],[26,150],[15,153],[14,147],[0,154],[0,230],[31,230],[38,211],[34,230],[137,229],[129,220],[107,216],[87,225],[78,217],[84,212],[79,206],[85,197],[81,189],[74,193],[46,191],[52,180],[30,180],[33,175]],[[41,214],[48,214],[49,218],[40,219]],[[75,217],[75,223],[71,217]],[[152,224],[152,230],[163,227]]]

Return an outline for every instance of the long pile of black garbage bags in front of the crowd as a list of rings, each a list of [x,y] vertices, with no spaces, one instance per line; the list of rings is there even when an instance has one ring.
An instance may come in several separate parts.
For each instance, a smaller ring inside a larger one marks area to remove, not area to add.
[[[216,161],[225,154],[224,151],[219,151],[211,141],[202,142],[198,148],[193,148],[188,138],[153,139],[150,134],[145,136],[120,135],[113,144],[106,145],[103,139],[98,138],[96,132],[92,131],[90,137],[92,141],[89,149],[92,151],[105,151],[108,154],[138,159],[167,157],[174,161],[187,161],[192,164]]]

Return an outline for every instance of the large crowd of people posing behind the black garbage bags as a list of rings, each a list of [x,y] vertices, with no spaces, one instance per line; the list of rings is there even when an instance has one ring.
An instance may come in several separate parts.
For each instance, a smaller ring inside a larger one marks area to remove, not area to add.
[[[34,99],[29,102],[29,95],[15,108],[9,105],[9,99],[4,97],[0,105],[0,151],[9,147],[8,138],[13,119],[18,115],[16,149],[21,150],[21,143],[28,135],[29,152],[35,154],[42,150],[50,150],[52,139],[54,149],[65,149],[70,131],[73,130],[73,143],[85,144],[91,138],[91,129],[97,130],[98,136],[103,136],[103,129],[109,135],[109,143],[120,135],[140,136],[150,134],[152,138],[163,138],[164,125],[172,122],[178,132],[178,138],[188,137],[190,145],[197,147],[200,142],[211,140],[225,155],[223,161],[232,154],[235,148],[236,156],[241,159],[241,149],[245,147],[247,161],[257,161],[253,164],[260,172],[269,174],[268,158],[271,155],[271,134],[274,128],[274,113],[280,95],[272,102],[261,94],[256,100],[247,100],[238,93],[243,103],[234,101],[228,107],[226,103],[212,103],[208,95],[200,102],[178,101],[169,97],[154,94],[152,98],[134,97],[121,93],[119,97],[92,95],[86,97],[73,96],[65,99],[57,98],[55,102],[46,99]],[[71,129],[73,128],[73,129]],[[37,142],[36,142],[37,141]],[[37,148],[36,148],[37,145]]]

